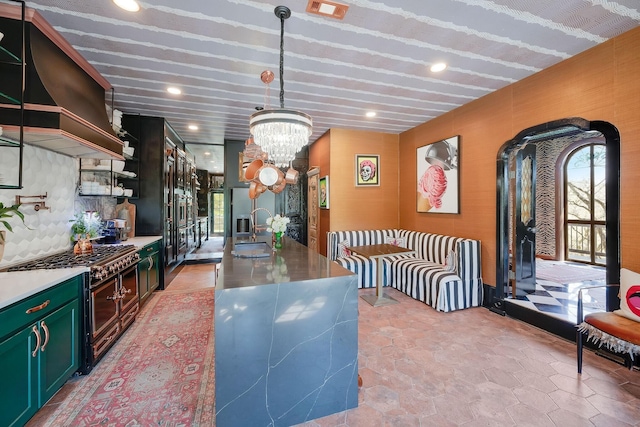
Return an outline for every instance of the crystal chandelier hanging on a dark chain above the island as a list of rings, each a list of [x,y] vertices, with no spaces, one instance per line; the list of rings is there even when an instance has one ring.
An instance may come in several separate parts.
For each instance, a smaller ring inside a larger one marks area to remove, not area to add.
[[[291,10],[277,6],[274,13],[280,18],[280,108],[253,113],[249,131],[269,160],[282,168],[289,166],[296,153],[309,143],[313,122],[308,114],[284,108],[284,20],[291,16]]]

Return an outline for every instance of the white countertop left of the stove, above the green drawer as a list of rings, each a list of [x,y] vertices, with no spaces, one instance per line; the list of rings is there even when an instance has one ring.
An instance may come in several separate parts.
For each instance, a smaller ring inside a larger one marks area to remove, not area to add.
[[[89,267],[73,267],[0,273],[0,309],[88,271]]]

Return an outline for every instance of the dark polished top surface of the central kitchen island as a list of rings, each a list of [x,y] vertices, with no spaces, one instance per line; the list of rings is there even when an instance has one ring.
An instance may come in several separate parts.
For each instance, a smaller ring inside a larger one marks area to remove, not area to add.
[[[250,238],[227,239],[216,289],[271,285],[284,282],[324,279],[353,274],[308,247],[283,237],[281,249],[271,250],[268,256],[242,258],[234,256],[236,244],[254,242]],[[271,247],[271,237],[257,237]]]

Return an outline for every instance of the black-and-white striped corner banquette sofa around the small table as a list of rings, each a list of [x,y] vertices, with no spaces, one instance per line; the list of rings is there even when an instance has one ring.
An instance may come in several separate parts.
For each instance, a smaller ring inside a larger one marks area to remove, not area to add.
[[[390,240],[415,254],[383,258],[384,286],[398,289],[438,311],[482,304],[479,240],[398,229],[331,231],[327,233],[327,257],[357,273],[359,288],[375,287],[376,260],[346,253],[345,247]]]

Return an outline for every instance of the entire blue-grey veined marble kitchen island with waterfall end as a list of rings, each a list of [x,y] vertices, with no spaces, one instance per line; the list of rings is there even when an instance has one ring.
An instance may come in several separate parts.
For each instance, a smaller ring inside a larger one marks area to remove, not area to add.
[[[356,407],[357,275],[286,237],[256,258],[234,255],[243,242],[228,240],[216,284],[216,425],[289,426]]]

